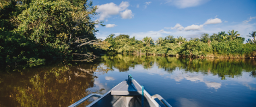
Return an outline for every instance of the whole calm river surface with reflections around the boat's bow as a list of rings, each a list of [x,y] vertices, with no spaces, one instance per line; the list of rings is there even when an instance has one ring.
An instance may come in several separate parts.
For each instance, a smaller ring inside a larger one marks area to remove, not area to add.
[[[88,94],[108,92],[129,74],[150,95],[160,94],[172,106],[256,106],[255,59],[132,55],[2,68],[0,106],[69,106]]]

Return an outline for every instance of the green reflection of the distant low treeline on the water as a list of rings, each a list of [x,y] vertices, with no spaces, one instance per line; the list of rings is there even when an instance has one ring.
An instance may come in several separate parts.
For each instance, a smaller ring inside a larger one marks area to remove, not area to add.
[[[184,69],[187,72],[200,72],[205,75],[214,74],[222,79],[226,77],[239,77],[243,71],[251,72],[255,77],[255,59],[182,59],[176,57],[154,57],[146,55],[114,55],[103,56],[104,64],[110,69],[129,71],[129,67],[143,65],[144,69],[150,69],[154,63],[172,73],[175,69]]]

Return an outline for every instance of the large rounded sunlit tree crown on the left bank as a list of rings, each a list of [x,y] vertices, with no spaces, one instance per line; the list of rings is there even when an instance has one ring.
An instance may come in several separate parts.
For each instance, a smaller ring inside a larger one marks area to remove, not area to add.
[[[91,9],[86,10],[83,6],[86,1],[80,2],[32,1],[30,7],[18,15],[20,25],[15,31],[41,44],[69,46],[79,36],[95,39],[95,23],[89,16],[96,15],[96,7],[89,6]]]

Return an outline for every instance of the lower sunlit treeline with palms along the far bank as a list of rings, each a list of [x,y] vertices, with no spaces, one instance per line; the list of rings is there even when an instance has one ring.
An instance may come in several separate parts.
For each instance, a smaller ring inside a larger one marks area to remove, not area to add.
[[[179,36],[160,37],[156,42],[151,37],[137,40],[129,35],[110,34],[105,41],[111,45],[110,53],[137,53],[150,55],[170,55],[187,57],[220,57],[220,58],[250,58],[256,55],[255,33],[249,33],[253,39],[240,37],[238,31],[230,30],[228,34],[218,32],[218,34],[202,34],[201,38],[183,38]]]

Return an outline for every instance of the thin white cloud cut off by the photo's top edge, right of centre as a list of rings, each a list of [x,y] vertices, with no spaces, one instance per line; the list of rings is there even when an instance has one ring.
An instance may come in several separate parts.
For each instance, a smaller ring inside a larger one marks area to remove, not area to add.
[[[175,5],[179,8],[187,8],[201,5],[207,1],[210,0],[166,0],[166,3],[170,3],[171,5]]]

